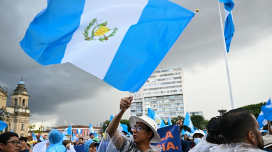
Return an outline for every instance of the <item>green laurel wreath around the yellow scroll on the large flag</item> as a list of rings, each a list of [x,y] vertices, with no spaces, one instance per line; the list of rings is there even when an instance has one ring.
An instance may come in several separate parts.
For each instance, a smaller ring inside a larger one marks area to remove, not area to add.
[[[95,39],[93,37],[89,36],[89,29],[94,25],[94,23],[97,22],[97,19],[94,18],[92,21],[90,21],[89,25],[84,29],[84,33],[82,33],[84,35],[84,39],[86,41],[90,41],[90,40],[99,40],[100,42],[104,42],[104,40],[108,40],[109,38],[113,37],[116,34],[116,31],[118,31],[118,28],[113,28],[113,32],[108,35],[108,36],[104,36],[104,37],[100,37],[98,39]]]

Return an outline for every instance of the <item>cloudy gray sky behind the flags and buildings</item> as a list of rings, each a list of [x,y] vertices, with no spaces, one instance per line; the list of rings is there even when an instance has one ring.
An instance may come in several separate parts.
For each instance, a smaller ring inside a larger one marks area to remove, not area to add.
[[[188,112],[203,111],[205,119],[230,110],[230,97],[218,3],[214,0],[172,0],[191,10],[199,9],[158,68],[182,67],[184,100]],[[234,1],[235,33],[228,64],[234,108],[266,102],[272,94],[272,1]],[[19,46],[32,19],[46,0],[0,1],[0,85],[10,94],[21,75],[29,91],[31,124],[64,123],[93,126],[116,114],[126,96],[91,74],[66,64],[42,66]],[[224,7],[221,3],[224,19]],[[128,112],[123,119],[128,119]]]

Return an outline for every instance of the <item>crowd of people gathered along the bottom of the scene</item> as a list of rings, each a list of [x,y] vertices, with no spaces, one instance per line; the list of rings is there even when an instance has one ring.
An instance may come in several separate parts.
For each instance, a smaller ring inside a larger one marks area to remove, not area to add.
[[[65,152],[71,146],[81,146],[84,152],[160,152],[161,147],[150,145],[159,143],[161,138],[157,133],[157,123],[150,117],[131,116],[129,125],[133,137],[127,137],[120,129],[119,123],[125,111],[131,106],[133,97],[121,99],[120,112],[111,120],[107,128],[108,141],[99,139],[90,133],[90,139],[79,138],[78,143],[70,140],[63,141],[60,131],[53,129],[49,133],[49,143],[46,152]],[[183,129],[182,119],[176,124]],[[197,129],[188,137],[181,135],[183,152],[232,152],[232,151],[270,151],[272,152],[272,129],[268,121],[268,131],[259,131],[259,124],[254,115],[245,109],[234,109],[226,112],[222,117],[216,116],[210,119],[207,126],[207,135],[203,130]],[[106,138],[105,138],[106,139]],[[105,144],[105,142],[108,142]],[[106,145],[106,147],[101,148]],[[26,137],[18,137],[17,133],[5,132],[0,135],[0,152],[32,152],[27,144]]]

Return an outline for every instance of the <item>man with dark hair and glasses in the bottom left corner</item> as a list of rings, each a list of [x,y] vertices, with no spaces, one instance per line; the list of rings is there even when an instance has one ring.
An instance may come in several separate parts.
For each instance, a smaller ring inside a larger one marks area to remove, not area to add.
[[[5,132],[0,135],[0,152],[19,151],[21,142],[17,133]]]

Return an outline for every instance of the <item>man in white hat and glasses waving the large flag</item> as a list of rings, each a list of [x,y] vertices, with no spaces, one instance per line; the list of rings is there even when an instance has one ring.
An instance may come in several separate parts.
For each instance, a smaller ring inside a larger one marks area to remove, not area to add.
[[[161,138],[157,133],[157,123],[146,115],[141,117],[131,116],[129,118],[133,140],[132,138],[127,138],[121,131],[117,130],[120,120],[125,111],[131,106],[132,100],[132,96],[121,99],[119,108],[123,109],[113,117],[107,128],[107,133],[111,137],[112,143],[121,152],[161,151],[161,147],[149,145],[149,143],[159,143]]]

